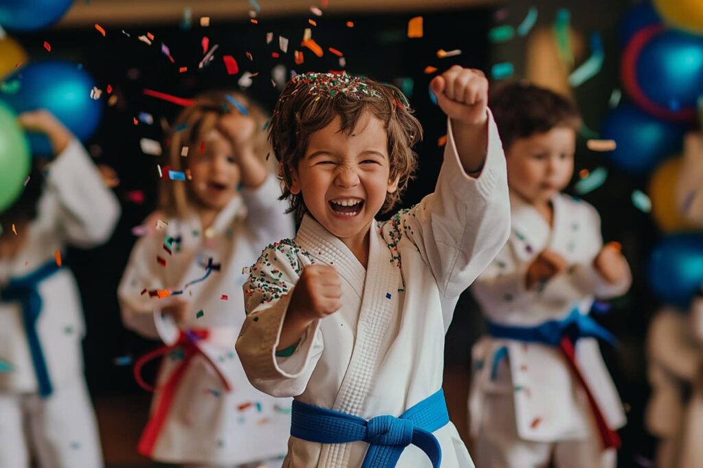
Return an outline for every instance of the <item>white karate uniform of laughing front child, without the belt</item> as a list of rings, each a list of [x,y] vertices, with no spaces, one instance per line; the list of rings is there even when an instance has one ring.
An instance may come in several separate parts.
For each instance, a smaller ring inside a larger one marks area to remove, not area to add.
[[[449,126],[435,192],[388,222],[373,222],[368,268],[311,216],[295,240],[269,246],[244,286],[247,320],[237,352],[252,384],[276,396],[367,420],[399,416],[441,387],[444,334],[460,293],[491,262],[508,236],[505,156],[489,119],[483,172],[467,176]],[[280,327],[300,272],[333,265],[342,277],[342,308],[316,320],[295,352],[277,357]],[[472,467],[456,427],[434,432],[442,467]],[[291,437],[284,467],[359,467],[368,445],[321,444]],[[398,467],[430,467],[408,446]]]

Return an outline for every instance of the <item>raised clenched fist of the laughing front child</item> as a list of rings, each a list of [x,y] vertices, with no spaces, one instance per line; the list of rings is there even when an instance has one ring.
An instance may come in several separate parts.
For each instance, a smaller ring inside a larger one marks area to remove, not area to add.
[[[435,76],[430,87],[450,119],[467,126],[481,126],[488,120],[488,80],[480,70],[454,65]]]

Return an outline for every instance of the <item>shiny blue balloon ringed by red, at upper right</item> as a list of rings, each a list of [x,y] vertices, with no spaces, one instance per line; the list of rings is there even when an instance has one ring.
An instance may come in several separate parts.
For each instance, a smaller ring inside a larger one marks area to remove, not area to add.
[[[695,109],[703,95],[703,36],[670,29],[647,41],[636,80],[652,102],[674,112]]]

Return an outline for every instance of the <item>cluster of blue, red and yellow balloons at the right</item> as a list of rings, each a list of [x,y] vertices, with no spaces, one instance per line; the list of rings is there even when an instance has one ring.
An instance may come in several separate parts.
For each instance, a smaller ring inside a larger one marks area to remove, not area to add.
[[[620,24],[620,76],[631,102],[613,109],[602,128],[615,140],[615,166],[650,175],[652,215],[662,231],[650,259],[652,290],[688,309],[703,286],[703,233],[678,213],[676,184],[683,135],[703,97],[703,1],[654,0],[628,9]],[[701,181],[703,185],[703,180]]]

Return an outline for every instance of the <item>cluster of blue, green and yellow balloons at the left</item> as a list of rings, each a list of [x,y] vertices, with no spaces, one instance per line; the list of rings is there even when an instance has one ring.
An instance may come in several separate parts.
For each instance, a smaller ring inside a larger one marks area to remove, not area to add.
[[[5,0],[0,27],[31,31],[52,25],[72,0]],[[89,138],[101,121],[103,107],[93,100],[95,81],[80,65],[60,60],[32,62],[10,36],[0,39],[0,213],[22,193],[31,159],[51,156],[45,135],[25,135],[17,114],[46,109],[80,140]]]

